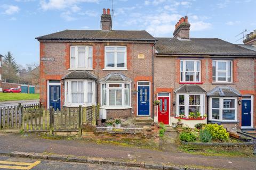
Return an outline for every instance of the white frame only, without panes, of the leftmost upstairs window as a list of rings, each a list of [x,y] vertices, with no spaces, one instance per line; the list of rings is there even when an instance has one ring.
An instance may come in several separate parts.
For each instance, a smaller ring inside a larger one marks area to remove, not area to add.
[[[75,57],[72,57],[72,47],[75,47]],[[78,67],[78,48],[86,48],[86,55],[85,55],[85,67]],[[92,56],[89,55],[89,48],[92,48]],[[70,46],[70,54],[69,54],[69,70],[93,70],[93,46],[84,45],[84,46]],[[72,67],[71,58],[75,58],[75,67]],[[91,67],[89,67],[89,58],[91,59]]]

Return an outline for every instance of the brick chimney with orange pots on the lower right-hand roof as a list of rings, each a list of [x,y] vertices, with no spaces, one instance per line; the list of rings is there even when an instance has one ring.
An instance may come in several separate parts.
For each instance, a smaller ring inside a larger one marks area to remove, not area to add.
[[[174,38],[189,39],[189,28],[188,16],[182,17],[177,24],[175,24],[175,30],[173,32]]]

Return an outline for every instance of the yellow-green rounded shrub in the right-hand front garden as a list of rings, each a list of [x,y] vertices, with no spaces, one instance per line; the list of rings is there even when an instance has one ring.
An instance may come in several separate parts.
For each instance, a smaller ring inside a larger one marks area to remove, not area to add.
[[[217,139],[220,141],[227,141],[229,139],[229,133],[221,125],[207,124],[205,129],[211,133],[212,139]]]

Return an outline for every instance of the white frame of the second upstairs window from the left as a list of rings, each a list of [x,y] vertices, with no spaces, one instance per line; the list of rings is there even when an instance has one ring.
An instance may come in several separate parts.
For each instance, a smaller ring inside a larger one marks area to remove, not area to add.
[[[115,49],[114,50],[106,50],[107,47],[114,47]],[[118,47],[124,47],[125,50],[124,51],[118,51],[117,48]],[[104,69],[103,70],[127,70],[127,47],[126,46],[105,46],[104,47]],[[107,53],[108,52],[112,52],[114,53],[114,67],[108,67],[107,66]],[[124,67],[117,67],[117,53],[124,53],[124,61],[125,61],[125,66]]]

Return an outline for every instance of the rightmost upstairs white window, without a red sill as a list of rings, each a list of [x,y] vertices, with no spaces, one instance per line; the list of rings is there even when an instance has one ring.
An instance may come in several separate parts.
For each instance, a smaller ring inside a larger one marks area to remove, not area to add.
[[[232,61],[213,61],[212,80],[213,82],[232,82]]]

